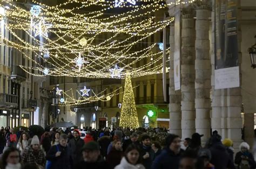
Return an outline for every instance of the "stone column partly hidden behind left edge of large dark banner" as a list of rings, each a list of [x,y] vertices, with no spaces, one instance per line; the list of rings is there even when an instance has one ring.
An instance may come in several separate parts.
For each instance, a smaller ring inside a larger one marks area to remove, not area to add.
[[[211,116],[211,128],[212,131],[217,130],[218,133],[221,134],[221,90],[215,90],[214,85],[214,70],[215,70],[215,54],[214,54],[214,44],[215,44],[215,38],[214,38],[214,1],[212,1],[212,30],[211,30],[211,65],[212,65],[212,75],[211,75],[211,86],[212,86],[212,116]]]

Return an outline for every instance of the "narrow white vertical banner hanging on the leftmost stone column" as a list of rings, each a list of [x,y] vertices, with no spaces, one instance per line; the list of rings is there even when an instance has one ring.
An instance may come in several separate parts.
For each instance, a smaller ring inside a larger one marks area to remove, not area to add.
[[[174,32],[174,88],[175,90],[180,90],[180,11],[175,15]]]

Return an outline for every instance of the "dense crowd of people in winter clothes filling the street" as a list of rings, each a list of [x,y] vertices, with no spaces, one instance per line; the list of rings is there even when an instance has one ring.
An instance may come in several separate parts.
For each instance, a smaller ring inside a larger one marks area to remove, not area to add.
[[[250,146],[243,142],[235,153],[231,139],[217,131],[204,146],[199,133],[181,138],[166,129],[81,129],[51,128],[42,136],[30,136],[22,129],[0,132],[1,169],[178,169],[255,168]],[[181,145],[182,143],[182,145]]]

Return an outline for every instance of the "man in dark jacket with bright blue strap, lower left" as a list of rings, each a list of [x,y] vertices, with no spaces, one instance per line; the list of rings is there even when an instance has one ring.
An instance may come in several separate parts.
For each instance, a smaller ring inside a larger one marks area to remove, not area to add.
[[[67,146],[68,136],[61,134],[59,136],[59,144],[51,147],[46,155],[46,160],[51,161],[51,169],[71,169],[73,165],[71,150]]]

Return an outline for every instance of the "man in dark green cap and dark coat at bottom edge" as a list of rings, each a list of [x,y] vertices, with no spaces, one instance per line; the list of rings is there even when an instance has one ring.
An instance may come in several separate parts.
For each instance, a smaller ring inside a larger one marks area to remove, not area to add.
[[[109,169],[106,161],[100,158],[99,144],[97,142],[86,143],[82,149],[83,159],[76,164],[75,168],[86,169]]]

